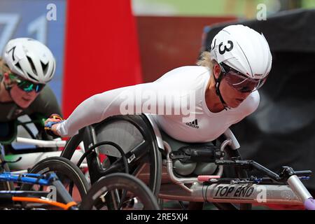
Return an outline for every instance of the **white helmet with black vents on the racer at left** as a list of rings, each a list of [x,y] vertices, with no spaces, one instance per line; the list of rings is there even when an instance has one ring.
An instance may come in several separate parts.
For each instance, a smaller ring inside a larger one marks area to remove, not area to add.
[[[43,43],[32,38],[10,40],[3,59],[13,73],[34,83],[48,83],[55,73],[55,58]]]

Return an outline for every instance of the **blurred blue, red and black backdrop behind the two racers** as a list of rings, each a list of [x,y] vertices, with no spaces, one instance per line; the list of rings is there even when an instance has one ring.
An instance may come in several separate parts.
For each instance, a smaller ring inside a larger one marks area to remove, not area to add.
[[[232,127],[241,153],[269,169],[315,172],[315,0],[1,0],[0,50],[42,41],[65,118],[87,97],[195,64],[228,24],[262,31],[273,55],[255,114]],[[306,78],[305,78],[306,77]],[[307,182],[315,190],[315,180]]]

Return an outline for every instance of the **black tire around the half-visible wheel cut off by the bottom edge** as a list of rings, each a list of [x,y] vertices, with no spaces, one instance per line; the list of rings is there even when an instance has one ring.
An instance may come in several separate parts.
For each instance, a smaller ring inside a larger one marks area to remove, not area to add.
[[[104,195],[106,192],[116,189],[119,189],[120,191],[118,190],[118,192],[120,193],[123,192],[123,190],[127,190],[128,193],[132,193],[132,196],[137,197],[140,200],[141,204],[144,206],[143,209],[145,210],[160,210],[158,201],[148,186],[135,176],[124,173],[109,174],[94,183],[86,197],[83,198],[83,201],[80,204],[80,209],[96,209],[96,204],[100,202],[100,196]]]

